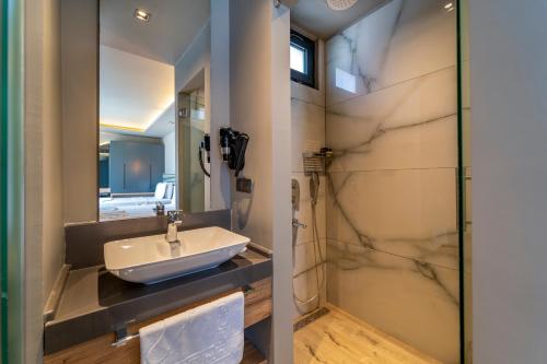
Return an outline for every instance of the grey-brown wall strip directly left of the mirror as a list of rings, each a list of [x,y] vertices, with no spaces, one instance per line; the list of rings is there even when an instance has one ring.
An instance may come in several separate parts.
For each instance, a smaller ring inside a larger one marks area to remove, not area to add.
[[[97,218],[97,0],[61,0],[65,222]]]

